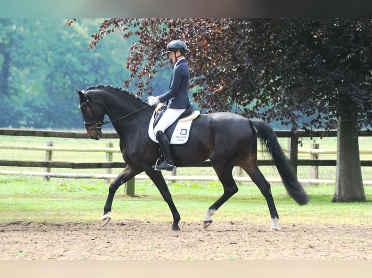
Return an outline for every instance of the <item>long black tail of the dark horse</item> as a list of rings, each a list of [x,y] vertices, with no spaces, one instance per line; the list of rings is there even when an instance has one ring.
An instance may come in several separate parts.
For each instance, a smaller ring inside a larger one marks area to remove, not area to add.
[[[253,125],[257,130],[257,137],[261,140],[263,145],[271,154],[274,164],[279,171],[283,184],[287,189],[287,193],[299,205],[307,204],[309,197],[304,191],[304,188],[297,180],[297,176],[292,170],[287,156],[283,153],[279,145],[278,139],[271,126],[262,120],[250,120],[251,126]]]

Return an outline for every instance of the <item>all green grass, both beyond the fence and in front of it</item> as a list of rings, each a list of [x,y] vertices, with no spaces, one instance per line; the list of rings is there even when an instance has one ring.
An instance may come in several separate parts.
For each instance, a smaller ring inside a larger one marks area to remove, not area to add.
[[[2,137],[1,145],[46,146],[50,139]],[[118,140],[102,139],[52,139],[54,146],[67,147],[105,147],[112,141],[118,147]],[[336,149],[336,139],[317,139],[321,149]],[[286,148],[287,140],[280,139]],[[303,148],[310,147],[311,140],[304,141]],[[360,149],[371,149],[372,138],[360,138]],[[361,159],[372,160],[371,154],[361,155]],[[309,155],[299,154],[299,158]],[[45,151],[22,151],[1,149],[2,159],[44,160]],[[53,152],[54,161],[104,162],[102,152]],[[320,159],[336,159],[335,154],[321,155]],[[114,161],[122,161],[120,154],[114,153]],[[279,177],[276,168],[260,167],[267,178]],[[39,168],[0,167],[0,170],[43,171]],[[104,169],[70,170],[53,169],[53,172],[104,173]],[[113,173],[120,169],[113,169]],[[334,179],[335,167],[322,167],[320,179]],[[372,180],[372,167],[362,169],[363,179]],[[210,176],[215,175],[209,168],[179,168],[177,175]],[[299,167],[298,177],[308,179],[309,167]],[[227,201],[217,212],[215,220],[242,220],[251,222],[270,222],[266,201],[252,183],[239,185],[239,192]],[[98,221],[103,213],[108,186],[97,179],[62,179],[51,178],[50,182],[42,177],[22,175],[0,175],[0,221]],[[287,197],[285,188],[272,184],[272,194],[282,221],[301,223],[352,223],[372,225],[372,185],[365,185],[368,202],[332,203],[334,185],[304,185],[310,195],[308,205],[299,206]],[[152,221],[170,221],[171,215],[167,204],[162,200],[158,190],[150,180],[136,180],[135,194],[129,197],[120,188],[114,199],[113,219],[130,219]],[[169,184],[174,202],[183,221],[202,221],[206,209],[222,194],[222,187],[217,181],[191,182],[177,181]]]

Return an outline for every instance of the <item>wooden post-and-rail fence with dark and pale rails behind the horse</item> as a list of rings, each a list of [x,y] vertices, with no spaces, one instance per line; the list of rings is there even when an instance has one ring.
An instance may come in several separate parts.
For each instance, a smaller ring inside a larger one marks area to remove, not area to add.
[[[336,154],[335,150],[324,150],[319,149],[319,145],[313,144],[311,149],[298,149],[298,139],[291,131],[275,131],[278,138],[287,138],[287,156],[291,162],[292,167],[297,172],[297,166],[311,166],[311,177],[310,179],[301,180],[302,183],[310,184],[327,184],[334,183],[332,180],[319,180],[318,179],[318,167],[319,166],[336,166],[336,160],[318,159],[319,154]],[[0,136],[27,136],[27,137],[50,137],[50,138],[73,138],[73,139],[86,139],[87,134],[84,131],[58,131],[58,130],[35,130],[35,129],[1,129]],[[299,132],[298,138],[309,137],[307,134]],[[317,131],[313,134],[313,137],[336,137],[336,131]],[[359,131],[359,136],[372,136],[370,131]],[[118,139],[118,135],[115,131],[106,131],[104,133],[106,139]],[[0,171],[0,174],[23,174],[23,175],[34,175],[43,176],[45,180],[49,180],[51,177],[59,178],[103,178],[107,183],[117,175],[112,174],[111,169],[113,168],[124,168],[125,162],[113,162],[112,154],[120,152],[119,148],[114,148],[112,143],[108,143],[105,148],[68,148],[53,146],[53,142],[49,141],[47,146],[13,146],[13,145],[0,145],[0,149],[23,149],[23,150],[42,150],[46,151],[45,161],[31,161],[31,160],[5,160],[0,159],[0,166],[10,167],[39,167],[44,168],[44,171],[31,172],[31,171]],[[106,153],[106,162],[61,162],[52,161],[52,152],[54,151],[71,151],[71,152],[104,152]],[[298,154],[307,153],[311,154],[310,159],[298,159]],[[372,154],[372,150],[361,150],[361,154]],[[273,165],[271,160],[258,160],[258,165],[267,166]],[[372,166],[371,160],[361,160],[361,166]],[[193,165],[192,167],[211,167],[209,161]],[[95,169],[101,168],[106,169],[105,174],[68,174],[68,173],[54,173],[51,172],[52,168],[66,168],[66,169]],[[137,175],[136,179],[148,179],[147,175]],[[175,182],[176,180],[189,180],[189,181],[214,181],[217,180],[215,176],[207,177],[185,177],[177,176],[176,171],[173,171],[166,179]],[[240,177],[237,174],[234,179],[237,182],[250,181],[247,177]],[[268,178],[271,183],[280,183],[281,179]],[[364,182],[365,184],[372,184],[372,181]],[[125,193],[128,195],[134,194],[135,191],[135,180],[132,179],[125,185]]]

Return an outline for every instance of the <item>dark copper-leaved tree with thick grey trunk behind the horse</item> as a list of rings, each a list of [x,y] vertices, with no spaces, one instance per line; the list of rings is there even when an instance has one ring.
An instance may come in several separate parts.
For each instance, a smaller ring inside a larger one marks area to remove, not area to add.
[[[151,80],[167,64],[165,46],[182,39],[193,99],[207,112],[236,109],[294,133],[338,128],[333,201],[366,201],[357,131],[372,119],[370,19],[109,19],[90,48],[117,30],[136,37],[124,84],[135,79],[138,95],[153,92]]]

